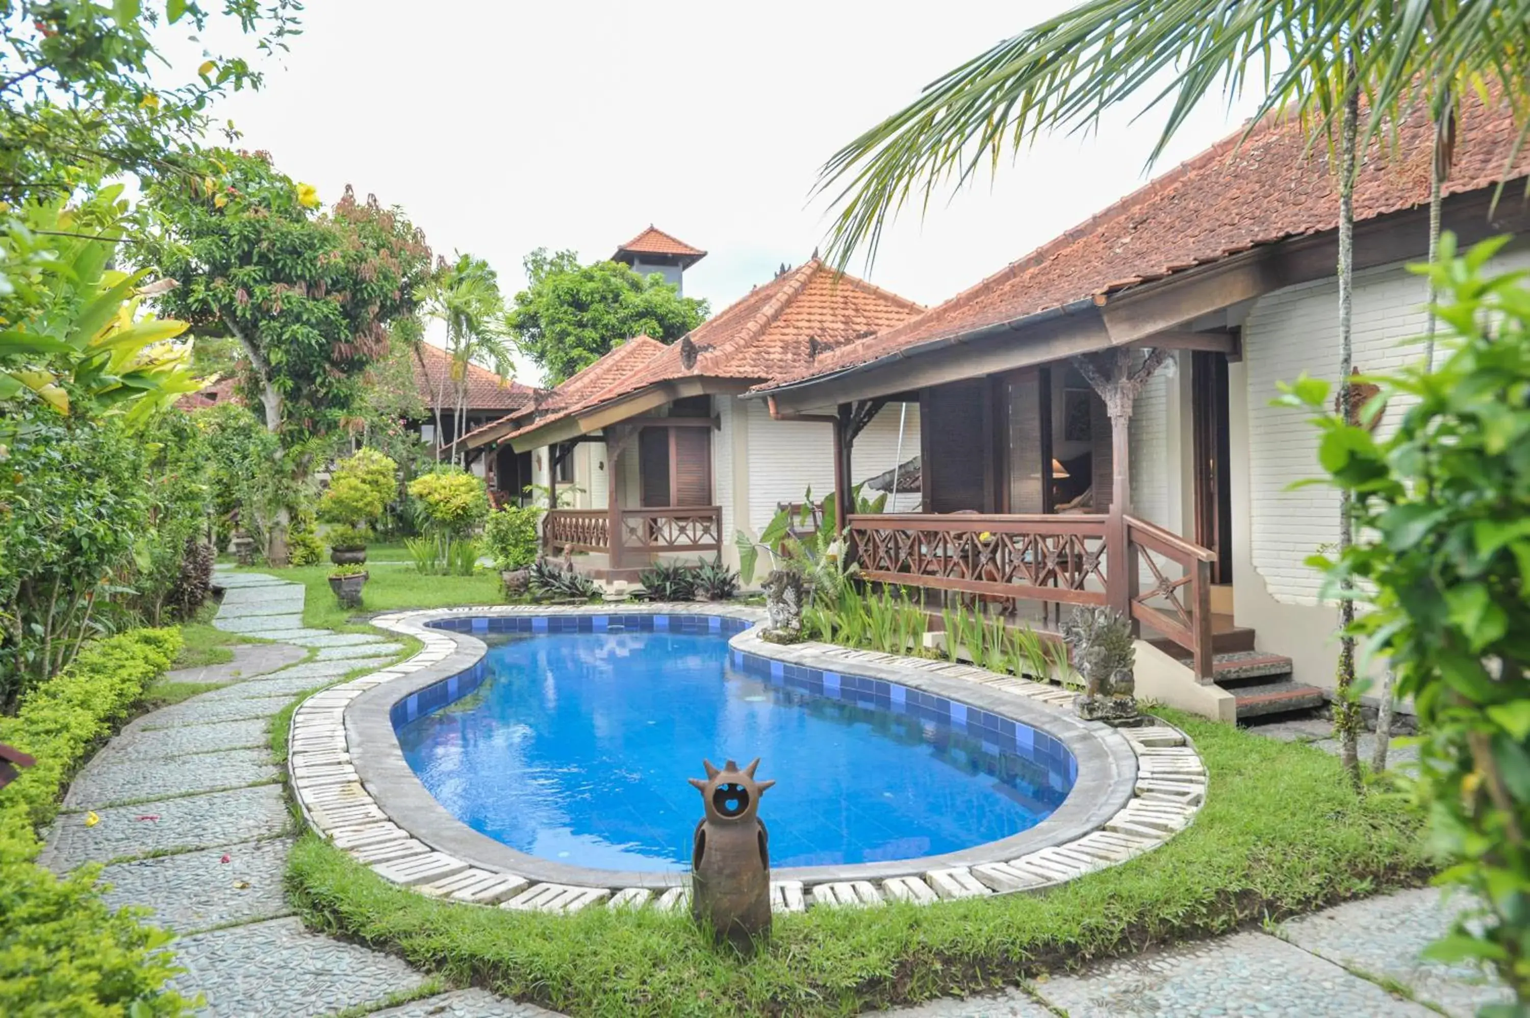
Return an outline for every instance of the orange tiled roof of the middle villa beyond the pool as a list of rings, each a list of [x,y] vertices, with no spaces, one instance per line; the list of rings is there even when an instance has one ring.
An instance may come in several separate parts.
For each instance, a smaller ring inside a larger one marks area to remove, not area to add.
[[[895,328],[921,311],[920,305],[889,294],[854,276],[835,274],[817,257],[757,286],[741,300],[685,334],[678,343],[658,346],[638,370],[607,370],[603,384],[586,384],[563,393],[563,401],[542,413],[522,432],[542,427],[577,410],[598,406],[647,386],[679,378],[731,378],[763,381],[782,374],[800,374],[846,343]],[[640,337],[647,338],[647,337]],[[653,343],[653,340],[649,340]],[[594,372],[617,347],[586,372]],[[626,364],[623,367],[627,367]],[[583,374],[583,372],[581,372]],[[578,375],[558,386],[572,389]],[[520,432],[517,432],[520,433]]]

